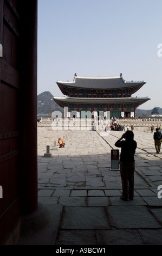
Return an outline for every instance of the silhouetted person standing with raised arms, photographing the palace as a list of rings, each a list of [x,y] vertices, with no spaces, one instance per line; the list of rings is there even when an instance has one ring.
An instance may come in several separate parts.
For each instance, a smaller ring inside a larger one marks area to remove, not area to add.
[[[125,139],[125,141],[122,139]],[[128,198],[133,200],[135,170],[134,154],[137,148],[137,142],[134,141],[134,133],[132,131],[126,131],[122,134],[121,138],[115,142],[115,147],[121,148],[119,162],[122,196],[120,198],[125,201],[127,201]]]

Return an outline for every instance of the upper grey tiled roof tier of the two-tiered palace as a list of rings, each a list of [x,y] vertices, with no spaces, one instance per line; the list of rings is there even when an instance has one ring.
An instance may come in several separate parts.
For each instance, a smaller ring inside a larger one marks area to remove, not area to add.
[[[146,82],[145,81],[125,81],[120,76],[107,76],[107,77],[85,77],[77,76],[75,74],[74,81],[57,81],[61,92],[68,95],[67,89],[69,88],[80,88],[80,89],[130,89],[131,93],[137,92]]]

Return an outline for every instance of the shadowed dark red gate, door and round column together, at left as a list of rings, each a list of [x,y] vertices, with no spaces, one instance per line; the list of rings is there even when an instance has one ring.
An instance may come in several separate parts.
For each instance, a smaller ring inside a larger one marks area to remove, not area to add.
[[[16,40],[12,46],[10,41],[9,48],[8,39],[15,35]],[[3,46],[3,57],[0,57],[0,185],[3,187],[0,244],[3,244],[21,216],[37,210],[37,0],[0,1],[0,44]],[[17,65],[12,65],[12,60]],[[14,107],[10,109],[11,106]],[[6,116],[9,113],[11,116]],[[12,121],[15,124],[8,125]]]

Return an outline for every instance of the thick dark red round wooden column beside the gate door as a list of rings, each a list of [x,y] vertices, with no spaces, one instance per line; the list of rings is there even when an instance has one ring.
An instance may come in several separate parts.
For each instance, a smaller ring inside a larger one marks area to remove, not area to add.
[[[22,214],[37,209],[37,0],[21,4],[21,160]]]

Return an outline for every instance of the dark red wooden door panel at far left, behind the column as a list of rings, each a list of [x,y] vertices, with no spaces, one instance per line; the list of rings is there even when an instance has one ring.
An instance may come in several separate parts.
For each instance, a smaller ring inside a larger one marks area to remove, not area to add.
[[[20,66],[18,0],[0,2],[0,244],[20,218],[18,159],[20,157]]]

